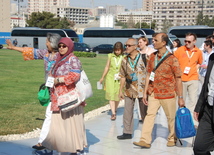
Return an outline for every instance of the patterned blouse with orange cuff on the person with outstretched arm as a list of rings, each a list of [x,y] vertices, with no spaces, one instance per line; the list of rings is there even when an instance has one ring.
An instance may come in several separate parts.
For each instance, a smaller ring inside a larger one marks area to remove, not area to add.
[[[57,54],[55,54],[54,57],[51,57],[47,49],[40,50],[40,49],[31,48],[31,47],[24,47],[22,51],[22,55],[24,60],[39,60],[39,59],[44,60],[45,81],[46,81],[49,71],[55,64]]]

